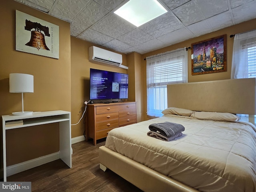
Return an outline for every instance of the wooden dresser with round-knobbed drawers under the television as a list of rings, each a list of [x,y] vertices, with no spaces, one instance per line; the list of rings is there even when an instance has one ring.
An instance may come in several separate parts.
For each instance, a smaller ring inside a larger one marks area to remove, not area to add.
[[[137,122],[136,102],[109,104],[88,104],[86,118],[86,141],[93,139],[93,144],[105,138],[113,128]]]

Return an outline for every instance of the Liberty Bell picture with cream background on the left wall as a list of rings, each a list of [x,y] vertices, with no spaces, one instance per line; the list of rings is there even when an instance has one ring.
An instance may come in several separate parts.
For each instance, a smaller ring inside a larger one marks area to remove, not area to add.
[[[16,10],[16,50],[59,58],[59,26]]]

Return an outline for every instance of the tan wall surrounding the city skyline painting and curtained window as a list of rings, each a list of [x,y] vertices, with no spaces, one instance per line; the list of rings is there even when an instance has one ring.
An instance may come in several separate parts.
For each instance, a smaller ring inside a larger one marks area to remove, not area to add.
[[[192,76],[192,70],[191,70],[191,49],[188,50],[188,82],[199,82],[199,81],[210,81],[210,80],[222,80],[222,79],[230,79],[231,74],[231,62],[232,62],[232,51],[233,51],[233,42],[234,37],[230,38],[229,36],[231,34],[237,34],[242,33],[246,31],[250,31],[256,28],[256,19],[250,20],[248,22],[244,22],[241,24],[237,24],[235,26],[231,26],[222,30],[218,30],[216,32],[212,32],[197,38],[193,38],[184,42],[180,42],[178,44],[168,46],[166,48],[162,48],[153,52],[149,52],[147,54],[142,55],[142,65],[143,65],[143,95],[144,95],[144,120],[147,120],[149,117],[146,115],[146,109],[147,109],[147,90],[146,90],[146,58],[147,56],[164,53],[170,50],[175,50],[178,48],[183,47],[191,47],[192,43],[200,42],[203,40],[207,40],[210,38],[214,38],[223,34],[227,34],[227,71],[226,72],[219,72],[219,73],[212,73],[212,74],[201,74],[201,75],[193,75]]]

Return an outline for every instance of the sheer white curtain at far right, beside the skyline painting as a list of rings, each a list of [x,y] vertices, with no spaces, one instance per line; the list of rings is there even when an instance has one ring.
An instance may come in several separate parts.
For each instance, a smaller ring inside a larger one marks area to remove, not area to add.
[[[255,77],[256,30],[236,34],[234,37],[231,78]]]

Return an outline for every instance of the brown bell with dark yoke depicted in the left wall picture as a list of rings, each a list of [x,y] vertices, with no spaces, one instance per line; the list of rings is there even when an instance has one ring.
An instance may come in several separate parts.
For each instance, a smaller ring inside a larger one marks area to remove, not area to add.
[[[30,41],[27,42],[25,45],[30,46],[30,47],[35,47],[35,48],[37,48],[37,50],[39,50],[39,49],[50,50],[46,46],[45,38],[44,38],[44,34],[46,36],[50,37],[49,28],[46,26],[42,26],[40,23],[31,22],[29,20],[26,20],[25,30],[30,31],[33,28],[35,30],[31,31]],[[43,31],[44,34],[42,34],[41,31]]]

